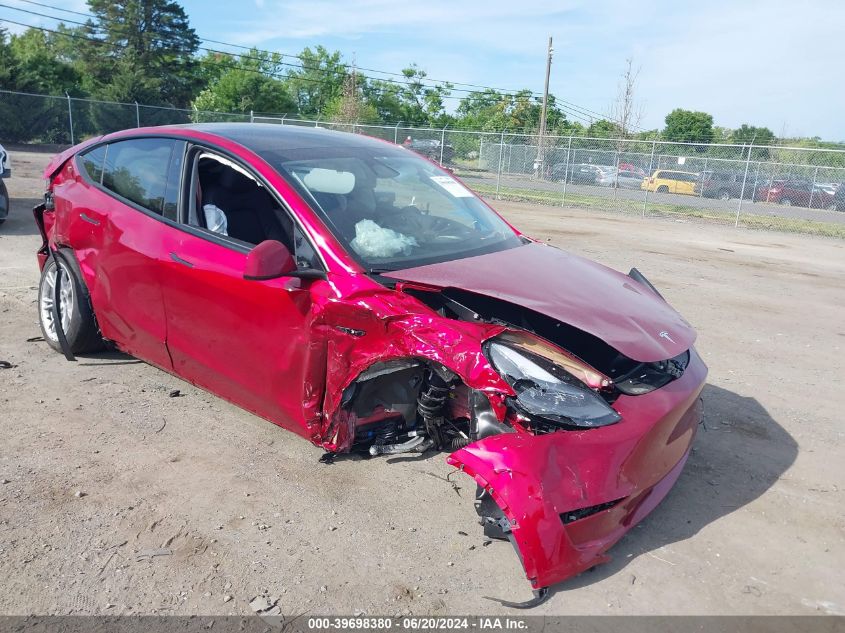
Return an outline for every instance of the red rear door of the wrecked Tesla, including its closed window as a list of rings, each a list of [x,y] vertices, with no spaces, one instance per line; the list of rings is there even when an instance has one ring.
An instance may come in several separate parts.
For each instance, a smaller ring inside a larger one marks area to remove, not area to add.
[[[87,182],[74,196],[78,217],[70,237],[103,336],[167,369],[158,275],[162,241],[176,230],[184,152],[184,141],[137,138],[82,154],[77,166]]]

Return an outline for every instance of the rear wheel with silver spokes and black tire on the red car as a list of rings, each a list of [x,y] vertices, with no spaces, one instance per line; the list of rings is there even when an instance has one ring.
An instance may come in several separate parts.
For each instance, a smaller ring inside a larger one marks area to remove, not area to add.
[[[100,336],[100,328],[97,327],[97,319],[91,307],[91,295],[82,281],[79,265],[76,258],[65,249],[60,250],[57,256],[62,270],[62,329],[70,351],[74,354],[96,352],[104,347],[104,341]],[[52,312],[55,277],[56,263],[50,257],[44,264],[38,284],[38,323],[47,344],[61,352],[62,347],[56,336]]]

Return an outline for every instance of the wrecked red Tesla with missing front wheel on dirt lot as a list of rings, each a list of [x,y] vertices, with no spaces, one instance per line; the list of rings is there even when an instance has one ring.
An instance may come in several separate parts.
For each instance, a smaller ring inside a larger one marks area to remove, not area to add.
[[[447,451],[485,532],[518,548],[528,604],[608,560],[689,455],[707,375],[692,327],[636,269],[522,235],[407,148],[140,128],[45,177],[52,347],[110,342],[328,459]]]

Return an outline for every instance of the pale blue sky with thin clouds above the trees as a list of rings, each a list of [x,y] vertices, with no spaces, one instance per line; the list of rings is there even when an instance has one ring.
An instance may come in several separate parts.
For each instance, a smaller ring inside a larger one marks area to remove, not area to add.
[[[83,0],[42,1],[86,9]],[[5,3],[39,10],[18,0]],[[201,37],[282,53],[322,44],[347,62],[354,57],[359,67],[399,72],[415,62],[433,79],[537,93],[552,36],[550,91],[581,110],[570,111],[573,120],[589,122],[584,110],[596,118],[610,111],[630,57],[639,69],[640,128],[662,128],[666,114],[680,107],[708,112],[723,127],[748,123],[778,136],[845,141],[843,0],[181,4]],[[55,24],[15,13],[0,8],[0,18]],[[447,108],[457,102],[447,101]]]

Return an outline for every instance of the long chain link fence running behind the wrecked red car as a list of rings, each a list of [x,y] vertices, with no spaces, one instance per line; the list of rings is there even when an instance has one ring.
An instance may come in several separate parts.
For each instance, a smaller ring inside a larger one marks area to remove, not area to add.
[[[495,199],[845,238],[845,150],[840,149],[541,138],[0,90],[0,143],[72,144],[130,127],[209,121],[303,125],[373,136],[440,163],[476,192]]]

